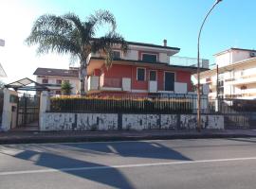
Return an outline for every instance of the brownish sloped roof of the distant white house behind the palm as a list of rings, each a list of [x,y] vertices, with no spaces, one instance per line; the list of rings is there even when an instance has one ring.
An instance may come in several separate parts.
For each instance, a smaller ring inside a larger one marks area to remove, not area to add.
[[[37,68],[33,75],[37,76],[60,76],[60,77],[79,77],[79,70]]]

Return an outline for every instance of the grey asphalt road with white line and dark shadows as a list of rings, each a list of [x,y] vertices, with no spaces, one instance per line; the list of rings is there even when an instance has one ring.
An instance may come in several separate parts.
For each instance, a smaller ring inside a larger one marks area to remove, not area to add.
[[[256,186],[256,138],[0,146],[1,189]]]

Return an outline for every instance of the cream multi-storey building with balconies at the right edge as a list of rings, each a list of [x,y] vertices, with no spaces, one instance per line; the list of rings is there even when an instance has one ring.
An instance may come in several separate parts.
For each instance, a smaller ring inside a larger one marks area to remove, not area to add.
[[[214,57],[218,69],[200,74],[200,82],[210,86],[209,97],[215,99],[218,90],[221,98],[255,99],[256,50],[229,48]]]

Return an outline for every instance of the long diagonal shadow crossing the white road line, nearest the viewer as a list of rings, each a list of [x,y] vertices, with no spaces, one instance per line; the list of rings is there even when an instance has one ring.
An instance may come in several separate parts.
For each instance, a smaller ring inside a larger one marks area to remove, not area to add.
[[[15,158],[22,160],[31,161],[33,157],[36,156],[36,161],[34,164],[44,166],[52,169],[62,169],[62,168],[79,168],[79,167],[98,167],[105,166],[100,163],[89,163],[85,161],[75,160],[69,157],[64,157],[56,154],[46,153],[46,152],[36,152],[31,150],[25,150],[17,155]],[[64,171],[67,174],[75,175],[77,177],[93,180],[99,183],[109,185],[116,188],[134,188],[129,180],[122,175],[116,168],[101,169],[101,170],[76,170],[76,171]],[[75,183],[74,183],[75,187]]]

